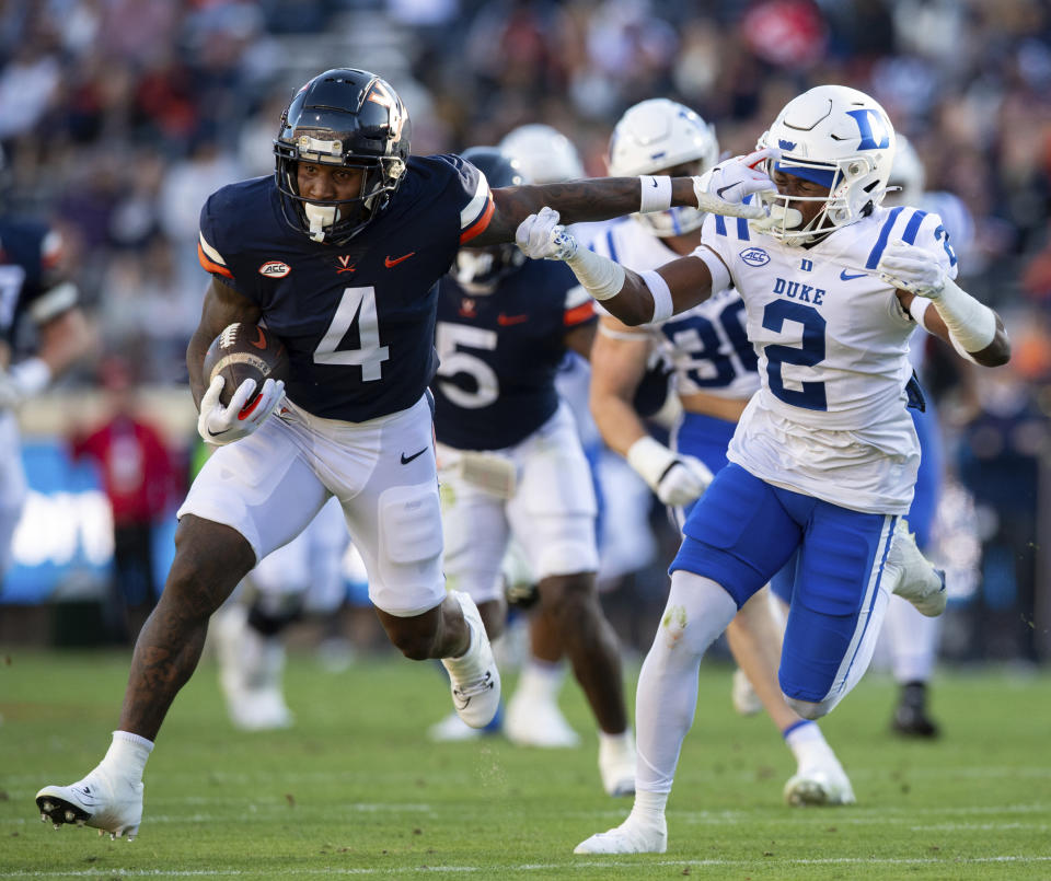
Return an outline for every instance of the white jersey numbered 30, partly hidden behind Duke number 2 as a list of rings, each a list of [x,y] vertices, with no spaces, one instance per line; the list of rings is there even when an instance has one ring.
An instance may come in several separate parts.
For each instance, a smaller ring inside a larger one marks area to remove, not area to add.
[[[590,247],[636,273],[681,256],[632,218],[610,223]],[[646,327],[674,368],[679,394],[747,399],[759,389],[755,349],[744,331],[744,303],[734,288]]]

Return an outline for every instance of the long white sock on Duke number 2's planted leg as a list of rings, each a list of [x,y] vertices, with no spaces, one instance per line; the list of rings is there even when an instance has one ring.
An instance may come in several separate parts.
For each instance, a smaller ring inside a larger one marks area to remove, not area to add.
[[[682,569],[672,573],[668,604],[638,677],[636,791],[671,791],[697,706],[701,658],[736,614],[737,603],[712,579]]]

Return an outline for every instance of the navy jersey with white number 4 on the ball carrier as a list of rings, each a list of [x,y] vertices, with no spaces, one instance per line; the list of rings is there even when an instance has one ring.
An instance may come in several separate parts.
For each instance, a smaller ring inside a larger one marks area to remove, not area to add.
[[[289,398],[316,416],[360,422],[424,394],[438,366],[436,282],[492,216],[473,165],[413,157],[383,212],[335,246],[292,229],[274,179],[258,177],[205,202],[198,256],[263,311],[287,347]]]

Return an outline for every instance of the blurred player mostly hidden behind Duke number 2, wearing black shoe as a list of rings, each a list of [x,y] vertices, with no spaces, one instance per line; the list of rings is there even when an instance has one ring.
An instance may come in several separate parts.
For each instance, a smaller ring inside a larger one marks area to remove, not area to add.
[[[898,148],[890,170],[891,187],[900,190],[887,194],[885,205],[905,205],[936,213],[948,234],[948,241],[960,254],[966,254],[974,237],[974,220],[967,206],[951,193],[926,193],[926,173],[912,143],[898,136]],[[927,338],[919,331],[910,339],[909,358],[916,372],[923,375]],[[923,455],[916,476],[916,492],[909,509],[909,528],[916,535],[920,549],[927,552],[934,526],[938,499],[942,496],[944,451],[937,413],[929,397],[926,409],[913,408],[912,415],[920,437]],[[934,738],[938,726],[927,712],[927,688],[937,656],[940,618],[921,615],[900,596],[891,598],[883,624],[890,647],[891,668],[899,685],[898,705],[891,720],[892,730],[905,737]]]

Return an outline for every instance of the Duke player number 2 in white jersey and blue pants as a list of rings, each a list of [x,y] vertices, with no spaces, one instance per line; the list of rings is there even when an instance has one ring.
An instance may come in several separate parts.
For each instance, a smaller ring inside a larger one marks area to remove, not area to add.
[[[919,323],[975,363],[1010,357],[996,313],[952,280],[956,255],[940,219],[880,206],[894,131],[876,101],[846,86],[811,89],[782,109],[759,148],[695,188],[698,205],[758,202],[769,213],[752,224],[707,218],[701,247],[658,270],[634,273],[578,247],[550,209],[517,231],[527,255],[566,260],[630,325],[663,321],[732,283],[759,353],[760,390],[738,422],[729,464],[686,520],[643,663],[635,805],[576,853],[667,848],[665,807],[701,658],[797,548],[778,676],[785,698],[816,719],[856,685],[910,563],[894,550],[920,462],[906,410],[909,337]],[[651,187],[652,204],[671,207],[670,178],[654,177]],[[936,577],[909,593],[927,614],[945,608]]]

